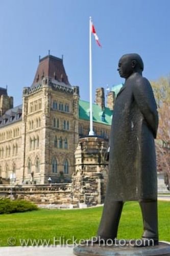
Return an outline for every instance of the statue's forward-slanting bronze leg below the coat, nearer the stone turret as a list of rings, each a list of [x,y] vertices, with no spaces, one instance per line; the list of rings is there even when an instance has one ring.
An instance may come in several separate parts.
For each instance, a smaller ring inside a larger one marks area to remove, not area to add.
[[[104,204],[98,236],[103,239],[114,239],[117,237],[118,223],[123,208],[122,201],[106,200]]]

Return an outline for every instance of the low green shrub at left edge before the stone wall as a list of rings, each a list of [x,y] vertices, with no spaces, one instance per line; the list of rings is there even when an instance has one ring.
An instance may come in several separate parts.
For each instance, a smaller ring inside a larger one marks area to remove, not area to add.
[[[37,205],[25,200],[11,201],[7,198],[0,198],[0,214],[12,214],[14,212],[31,210],[38,210]]]

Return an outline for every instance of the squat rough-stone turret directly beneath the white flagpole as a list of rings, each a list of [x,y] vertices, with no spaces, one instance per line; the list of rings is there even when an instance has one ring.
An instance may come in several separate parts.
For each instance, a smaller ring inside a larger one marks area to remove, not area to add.
[[[89,136],[79,139],[72,175],[72,200],[79,207],[104,202],[108,174],[108,162],[104,158],[106,148],[107,142],[103,138]]]

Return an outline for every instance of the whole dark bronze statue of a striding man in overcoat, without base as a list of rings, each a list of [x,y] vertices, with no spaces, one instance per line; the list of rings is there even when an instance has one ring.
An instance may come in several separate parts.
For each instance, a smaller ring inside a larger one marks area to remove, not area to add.
[[[142,212],[142,241],[152,239],[156,245],[157,106],[150,82],[142,77],[143,61],[138,54],[123,55],[117,70],[125,84],[114,105],[107,191],[98,236],[115,239],[124,202],[135,200]]]

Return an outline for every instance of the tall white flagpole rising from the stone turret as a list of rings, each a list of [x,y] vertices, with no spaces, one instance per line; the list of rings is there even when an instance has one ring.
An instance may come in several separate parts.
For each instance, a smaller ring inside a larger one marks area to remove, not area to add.
[[[91,17],[89,17],[89,91],[90,91],[90,131],[93,136],[93,110],[92,110],[92,61],[91,61]]]

